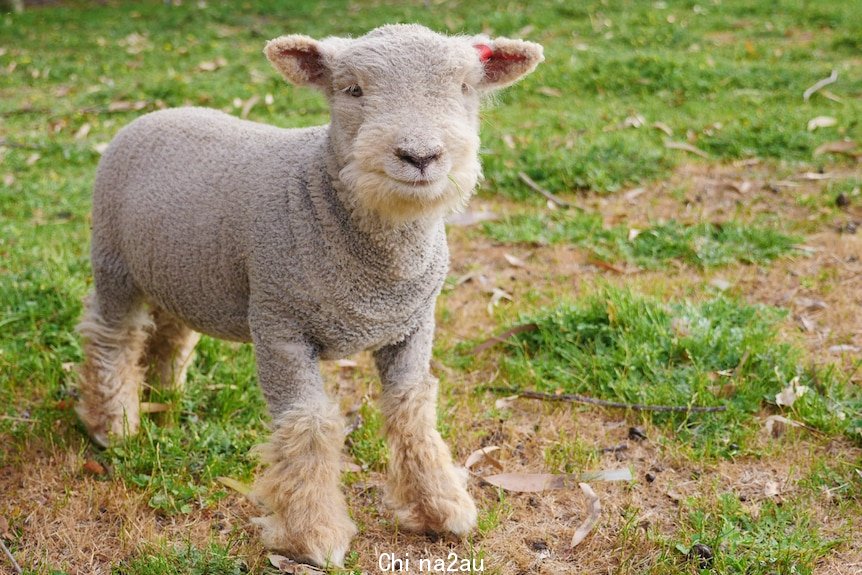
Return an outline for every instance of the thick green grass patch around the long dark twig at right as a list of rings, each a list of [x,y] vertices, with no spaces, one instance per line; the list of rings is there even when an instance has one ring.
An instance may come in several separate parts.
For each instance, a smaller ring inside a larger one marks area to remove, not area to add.
[[[662,303],[606,288],[522,318],[502,378],[519,388],[649,405],[724,405],[719,413],[644,412],[702,457],[748,453],[757,417],[791,379],[811,392],[789,410],[827,433],[862,440],[862,397],[834,370],[809,366],[779,338],[783,312],[717,298]],[[558,447],[559,449],[559,447]]]

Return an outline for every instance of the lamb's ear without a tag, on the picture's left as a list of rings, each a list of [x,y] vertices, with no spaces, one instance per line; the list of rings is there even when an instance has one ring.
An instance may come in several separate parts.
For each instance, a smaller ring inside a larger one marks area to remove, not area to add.
[[[314,38],[299,34],[279,36],[267,42],[263,52],[291,84],[324,90],[331,88],[332,77],[323,46]]]

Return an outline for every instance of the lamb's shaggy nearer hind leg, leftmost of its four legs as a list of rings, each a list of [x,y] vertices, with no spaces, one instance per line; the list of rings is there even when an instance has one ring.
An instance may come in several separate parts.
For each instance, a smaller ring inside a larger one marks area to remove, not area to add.
[[[84,340],[84,363],[76,411],[90,437],[102,446],[110,435],[138,431],[141,356],[151,326],[143,302],[131,293],[118,299],[97,289],[84,302],[77,327]]]

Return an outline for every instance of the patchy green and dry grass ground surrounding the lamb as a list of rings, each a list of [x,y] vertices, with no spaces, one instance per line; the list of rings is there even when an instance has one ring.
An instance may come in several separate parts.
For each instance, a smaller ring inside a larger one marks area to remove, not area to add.
[[[488,8],[462,0],[263,0],[239,7],[118,1],[0,14],[0,487],[12,493],[0,500],[0,515],[10,523],[8,546],[27,559],[29,572],[88,572],[94,568],[87,561],[98,554],[107,557],[100,569],[133,575],[270,572],[247,525],[235,526],[229,536],[186,528],[211,525],[217,508],[239,506],[217,477],[252,480],[256,461],[249,449],[266,436],[268,415],[250,347],[204,338],[185,393],[148,391],[150,401],[171,405],[168,416],[145,419],[139,436],[105,451],[87,442],[71,410],[73,366],[81,360],[74,325],[92,282],[89,198],[98,150],[132,119],[170,106],[204,105],[238,115],[257,97],[251,120],[284,127],[323,123],[324,99],[284,86],[261,55],[265,40],[286,32],[358,35],[399,21],[452,33],[523,36],[545,46],[547,59],[537,72],[483,112],[486,180],[479,200],[491,208],[498,195],[527,205],[517,213],[538,206],[539,197],[522,184],[519,172],[575,202],[576,192],[596,198],[636,184],[653,189],[691,161],[710,170],[756,158],[776,179],[803,170],[846,176],[767,196],[776,207],[762,219],[741,210],[722,223],[691,221],[678,206],[634,236],[625,221],[605,226],[607,214],[577,211],[531,212],[485,225],[484,233],[505,244],[502,249],[530,245],[535,256],[527,262],[529,275],[520,276],[522,284],[507,286],[514,301],[502,303],[493,316],[485,311],[487,294],[464,295],[470,285],[453,283],[445,296],[438,322],[441,364],[435,369],[445,372],[439,374],[440,427],[456,456],[482,441],[512,451],[505,465],[522,470],[596,468],[608,464],[601,447],[619,443],[613,425],[624,418],[660,435],[637,449],[646,460],[677,469],[680,477],[702,477],[703,469],[718,465],[786,465],[788,453],[798,451],[798,479],[791,485],[798,497],[766,502],[758,514],[753,503],[743,505],[724,487],[699,479],[698,493],[679,509],[654,508],[668,529],[644,531],[639,508],[629,505],[619,518],[604,516],[601,533],[569,554],[561,551],[570,537],[569,508],[579,503],[560,495],[562,510],[551,498],[525,499],[474,485],[479,533],[459,548],[459,556],[487,559],[488,573],[509,573],[513,565],[528,570],[535,557],[524,559],[521,539],[527,538],[547,541],[553,552],[548,561],[555,561],[547,564],[549,572],[571,569],[572,560],[561,557],[574,557],[620,573],[806,573],[836,548],[854,553],[842,541],[858,530],[862,516],[862,456],[853,447],[862,433],[858,361],[807,353],[791,312],[752,303],[764,296],[751,287],[764,274],[786,268],[784,276],[768,276],[776,281],[768,286],[771,292],[796,290],[835,306],[849,301],[845,309],[855,310],[854,276],[844,271],[853,261],[821,250],[797,274],[791,258],[783,256],[795,244],[813,241],[794,234],[831,230],[830,218],[858,218],[862,180],[854,160],[813,152],[828,141],[862,140],[862,5],[518,0],[505,9]],[[215,69],[205,71],[202,63]],[[803,91],[833,69],[838,82],[804,102]],[[816,116],[834,117],[836,124],[809,131],[807,123]],[[672,150],[666,140],[687,142],[707,157]],[[740,168],[740,179],[749,175],[747,169]],[[782,207],[788,202],[799,209],[792,212],[794,221]],[[681,223],[683,218],[691,223]],[[469,264],[488,281],[501,281],[503,273],[488,264],[496,247],[484,253],[454,235],[455,266]],[[851,235],[842,237],[851,241]],[[553,250],[545,248],[554,244],[632,264],[639,273],[611,277],[607,284],[564,274],[554,268]],[[732,290],[739,299],[716,298],[705,287],[705,276],[718,266],[722,273],[749,278]],[[636,287],[621,287],[626,283]],[[573,284],[579,286],[576,293],[587,295],[568,303]],[[540,305],[545,311],[535,311]],[[470,311],[474,307],[478,313]],[[539,329],[480,357],[461,353],[459,342],[501,329],[497,321],[509,323],[519,314]],[[847,325],[843,331],[824,325],[816,338],[852,343],[854,324]],[[835,334],[826,331],[832,328]],[[778,408],[775,394],[795,377],[810,391],[792,408]],[[628,402],[721,404],[728,410],[650,416],[589,408],[561,408],[564,415],[550,408],[497,409],[494,398],[470,387],[495,378],[522,388]],[[390,529],[377,489],[387,460],[380,413],[366,397],[367,386],[354,387],[345,395],[361,405],[361,424],[350,433],[346,455],[361,471],[346,477],[345,488],[362,532],[351,569],[374,569],[375,553],[384,547],[415,554],[430,547],[445,557],[448,543]],[[772,413],[816,431],[765,441],[759,430]],[[608,431],[591,435],[591,423]],[[76,457],[96,459],[109,472],[90,478],[68,463]],[[641,481],[643,461],[620,465],[631,466],[638,481],[601,492],[607,509],[622,507],[626,497],[649,495]],[[116,499],[136,496],[144,503],[134,513],[113,510]],[[109,509],[113,519],[101,511],[95,516],[97,507]],[[114,533],[121,534],[121,543],[105,544],[98,554],[86,550],[92,540]],[[65,542],[76,536],[80,544]],[[696,543],[715,551],[709,567],[689,558]],[[0,570],[4,565],[0,558]]]

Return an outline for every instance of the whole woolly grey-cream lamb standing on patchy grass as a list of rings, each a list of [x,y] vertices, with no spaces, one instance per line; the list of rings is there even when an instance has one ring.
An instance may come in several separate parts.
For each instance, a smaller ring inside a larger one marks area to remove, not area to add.
[[[429,363],[446,276],[444,217],[478,178],[480,98],[542,47],[388,25],[356,39],[276,38],[287,81],[331,123],[280,129],[203,108],[145,115],[94,186],[94,290],[77,412],[94,441],[137,431],[139,392],[180,388],[199,333],[254,343],[272,436],[253,496],[271,549],[341,565],[356,527],[339,489],[344,424],[318,362],[371,350],[398,525],[468,533],[476,507],[436,430]]]

